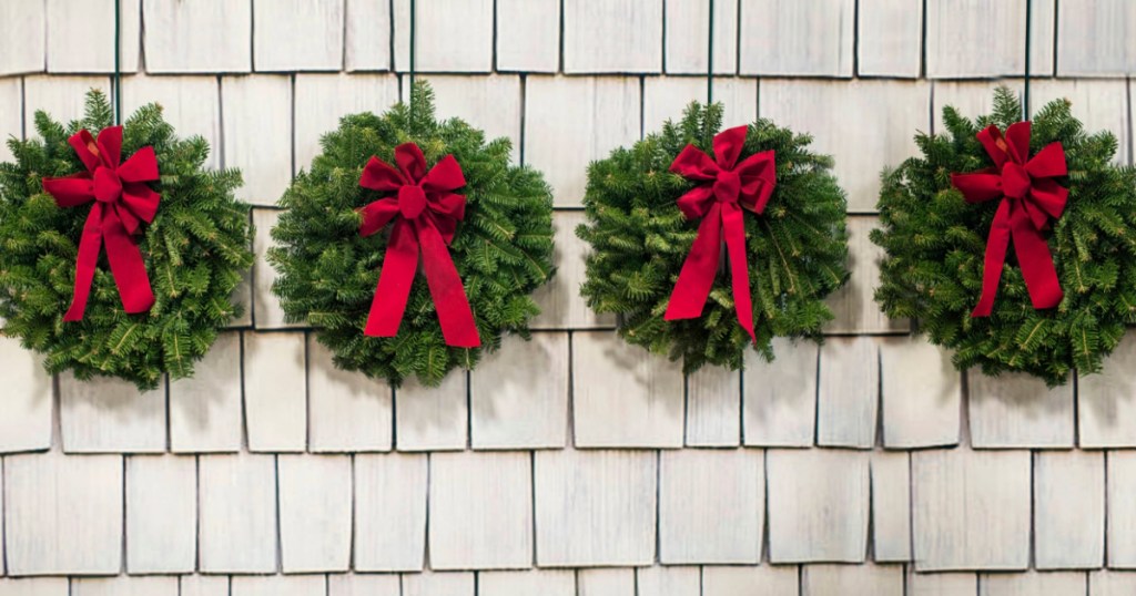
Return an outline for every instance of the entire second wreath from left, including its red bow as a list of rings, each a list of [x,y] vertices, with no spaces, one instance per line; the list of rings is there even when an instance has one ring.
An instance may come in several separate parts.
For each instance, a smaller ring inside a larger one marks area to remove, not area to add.
[[[287,320],[317,327],[336,366],[437,385],[504,331],[528,337],[529,294],[553,275],[552,193],[509,165],[508,138],[435,120],[425,83],[411,93],[323,137],[281,200],[268,260]]]

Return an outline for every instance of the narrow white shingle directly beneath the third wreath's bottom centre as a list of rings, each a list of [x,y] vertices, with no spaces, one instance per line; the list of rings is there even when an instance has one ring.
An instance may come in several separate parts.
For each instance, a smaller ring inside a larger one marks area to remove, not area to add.
[[[686,446],[732,447],[742,437],[742,378],[702,367],[686,377]]]

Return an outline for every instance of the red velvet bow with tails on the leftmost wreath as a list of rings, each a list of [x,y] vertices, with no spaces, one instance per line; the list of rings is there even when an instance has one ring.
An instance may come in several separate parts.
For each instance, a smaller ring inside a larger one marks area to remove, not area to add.
[[[119,163],[122,126],[103,128],[98,141],[91,133],[80,131],[67,142],[83,160],[86,171],[65,178],[43,178],[43,190],[55,196],[59,207],[76,207],[92,200],[94,204],[83,225],[75,263],[75,294],[64,320],[83,319],[103,242],[123,309],[132,314],[145,312],[153,305],[153,291],[133,236],[142,221],[153,221],[161,199],[145,184],[158,179],[153,148],[144,146],[125,163]]]

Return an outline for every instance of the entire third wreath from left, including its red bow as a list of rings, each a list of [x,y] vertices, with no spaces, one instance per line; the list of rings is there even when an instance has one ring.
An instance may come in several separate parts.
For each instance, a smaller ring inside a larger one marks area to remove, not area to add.
[[[686,372],[737,369],[747,344],[771,360],[774,336],[819,338],[833,318],[822,299],[849,277],[832,159],[763,119],[720,127],[720,104],[692,103],[593,162],[576,230],[592,245],[588,305]]]

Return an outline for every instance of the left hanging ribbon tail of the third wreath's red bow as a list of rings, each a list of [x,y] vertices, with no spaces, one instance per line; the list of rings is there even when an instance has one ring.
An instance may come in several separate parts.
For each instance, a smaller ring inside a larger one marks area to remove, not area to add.
[[[718,261],[721,257],[721,207],[715,203],[702,218],[699,234],[694,237],[691,252],[678,272],[678,282],[670,293],[670,302],[663,319],[695,319],[702,316],[702,307],[710,296]]]

